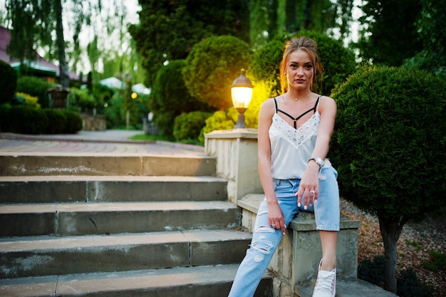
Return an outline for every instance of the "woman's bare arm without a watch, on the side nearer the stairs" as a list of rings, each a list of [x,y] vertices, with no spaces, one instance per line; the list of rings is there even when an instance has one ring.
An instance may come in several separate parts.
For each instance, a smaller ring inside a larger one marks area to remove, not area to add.
[[[279,203],[274,192],[271,174],[271,142],[269,140],[269,127],[274,115],[273,99],[266,100],[259,113],[258,125],[258,154],[259,154],[259,177],[261,186],[264,189],[266,202],[268,202],[268,222],[275,229],[281,229],[285,233],[284,215],[281,212]]]

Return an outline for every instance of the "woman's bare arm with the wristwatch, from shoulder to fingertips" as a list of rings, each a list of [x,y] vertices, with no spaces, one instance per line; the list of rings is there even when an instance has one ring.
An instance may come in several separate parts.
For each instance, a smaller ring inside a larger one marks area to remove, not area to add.
[[[325,159],[330,146],[331,135],[333,134],[334,124],[336,120],[336,102],[330,97],[321,97],[318,111],[321,114],[321,123],[319,123],[318,134],[316,138],[316,146],[314,147],[311,157],[320,157]],[[319,193],[319,165],[311,160],[306,166],[306,170],[301,179],[299,191],[297,192],[297,202],[300,206],[302,196],[304,197],[304,207],[306,202],[313,204],[313,199],[318,199]],[[312,194],[312,191],[314,193]]]

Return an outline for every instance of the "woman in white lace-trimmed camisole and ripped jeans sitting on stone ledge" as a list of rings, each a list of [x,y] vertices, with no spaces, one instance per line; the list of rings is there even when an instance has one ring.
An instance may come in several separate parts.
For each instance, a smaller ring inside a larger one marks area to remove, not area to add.
[[[265,199],[230,297],[254,296],[286,226],[299,211],[315,213],[321,236],[313,297],[335,296],[339,193],[337,172],[325,157],[336,103],[312,91],[320,69],[314,41],[301,37],[286,43],[280,65],[283,95],[266,100],[259,114],[259,175]]]

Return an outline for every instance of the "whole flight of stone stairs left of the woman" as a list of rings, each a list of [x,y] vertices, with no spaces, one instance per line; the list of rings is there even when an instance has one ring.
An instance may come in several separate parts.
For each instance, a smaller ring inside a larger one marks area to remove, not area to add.
[[[214,157],[0,156],[0,296],[227,296],[251,234]],[[269,296],[265,275],[256,296]]]

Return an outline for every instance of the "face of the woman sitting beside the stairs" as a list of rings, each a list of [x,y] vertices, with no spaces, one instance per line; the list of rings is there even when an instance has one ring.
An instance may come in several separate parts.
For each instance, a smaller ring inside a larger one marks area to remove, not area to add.
[[[314,66],[307,51],[293,51],[286,64],[286,79],[289,89],[310,90],[314,76]]]

